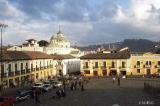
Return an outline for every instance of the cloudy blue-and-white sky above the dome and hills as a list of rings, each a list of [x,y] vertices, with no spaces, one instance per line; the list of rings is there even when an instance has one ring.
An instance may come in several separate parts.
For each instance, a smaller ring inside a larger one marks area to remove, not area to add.
[[[59,25],[72,45],[160,40],[160,0],[0,0],[3,43],[50,41]]]

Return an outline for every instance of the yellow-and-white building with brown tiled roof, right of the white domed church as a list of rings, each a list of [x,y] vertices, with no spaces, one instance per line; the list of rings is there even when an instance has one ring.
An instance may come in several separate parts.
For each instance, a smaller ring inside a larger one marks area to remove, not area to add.
[[[130,73],[129,51],[96,53],[82,56],[81,73],[85,76],[109,76]]]

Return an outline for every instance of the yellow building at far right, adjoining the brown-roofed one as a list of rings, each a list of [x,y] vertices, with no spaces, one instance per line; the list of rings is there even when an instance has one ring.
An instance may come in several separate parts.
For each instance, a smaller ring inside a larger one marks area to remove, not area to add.
[[[130,70],[133,75],[160,74],[160,54],[131,54]]]

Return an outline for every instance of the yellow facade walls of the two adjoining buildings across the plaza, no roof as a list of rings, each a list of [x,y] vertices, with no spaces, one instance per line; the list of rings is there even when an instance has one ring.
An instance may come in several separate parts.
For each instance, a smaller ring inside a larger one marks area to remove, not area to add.
[[[146,75],[147,69],[150,70],[150,74],[158,73],[158,69],[160,70],[160,66],[158,65],[158,61],[160,61],[160,54],[152,54],[152,53],[145,53],[145,54],[131,54],[129,59],[81,59],[81,72],[84,73],[84,70],[89,70],[90,74],[86,74],[85,76],[93,76],[93,71],[98,71],[99,76],[103,76],[101,68],[103,62],[106,62],[106,70],[107,75],[109,75],[110,70],[115,69],[117,70],[117,74],[119,75],[121,71],[126,71],[126,75]],[[112,61],[115,62],[115,68],[111,68]],[[122,61],[125,62],[126,67],[122,68]],[[137,67],[137,61],[140,61],[140,67]],[[151,61],[151,67],[146,67],[146,61]],[[88,62],[89,68],[84,68],[85,62]],[[98,68],[93,68],[95,62],[98,62]],[[137,72],[137,69],[140,69],[140,73]]]

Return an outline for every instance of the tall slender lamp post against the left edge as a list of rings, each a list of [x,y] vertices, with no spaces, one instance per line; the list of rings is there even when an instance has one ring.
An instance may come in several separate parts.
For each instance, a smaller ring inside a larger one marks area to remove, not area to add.
[[[3,82],[3,74],[4,74],[4,73],[2,73],[2,58],[3,58],[3,55],[2,55],[2,53],[3,53],[3,50],[2,50],[2,45],[3,45],[2,34],[3,33],[2,32],[3,32],[3,29],[6,28],[6,27],[8,27],[8,25],[0,23],[0,29],[1,29],[1,57],[0,57],[0,59],[1,59],[1,86],[3,86],[2,82]]]

